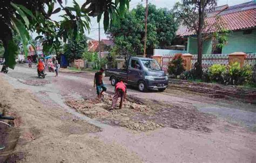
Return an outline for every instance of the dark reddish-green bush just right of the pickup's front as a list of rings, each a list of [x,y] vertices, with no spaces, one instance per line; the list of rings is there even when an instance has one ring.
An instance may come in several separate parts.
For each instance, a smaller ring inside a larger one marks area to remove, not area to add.
[[[172,61],[169,63],[168,72],[169,74],[173,74],[175,77],[177,77],[184,71],[185,71],[185,68],[184,68],[184,60],[182,58],[182,54],[176,54],[173,57]]]

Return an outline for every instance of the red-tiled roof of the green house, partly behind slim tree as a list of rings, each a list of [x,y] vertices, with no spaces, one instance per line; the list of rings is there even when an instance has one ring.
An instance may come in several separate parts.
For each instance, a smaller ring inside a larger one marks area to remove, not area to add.
[[[256,27],[256,3],[247,2],[227,7],[219,6],[214,11],[208,12],[206,22],[213,24],[215,16],[220,16],[224,23],[224,28],[228,30],[244,30]],[[186,26],[180,25],[177,31],[178,36],[194,35],[194,31],[188,31]]]

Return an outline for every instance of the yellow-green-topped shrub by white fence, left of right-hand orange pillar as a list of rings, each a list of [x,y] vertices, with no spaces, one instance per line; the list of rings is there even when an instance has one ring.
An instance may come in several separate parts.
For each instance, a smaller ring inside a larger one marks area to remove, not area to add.
[[[227,66],[214,64],[208,70],[208,78],[211,81],[216,81],[218,83],[223,83],[224,73],[227,70]]]

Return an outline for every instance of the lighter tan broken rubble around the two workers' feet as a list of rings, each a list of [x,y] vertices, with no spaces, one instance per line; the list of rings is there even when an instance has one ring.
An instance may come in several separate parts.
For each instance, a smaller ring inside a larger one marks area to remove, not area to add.
[[[112,97],[110,94],[105,93],[104,98],[101,100],[69,99],[65,103],[68,106],[74,108],[77,112],[85,114],[87,117],[96,118],[98,120],[104,121],[104,123],[126,127],[134,131],[149,131],[161,127],[153,121],[131,121],[130,117],[133,117],[134,113],[149,111],[151,110],[150,106],[136,104],[127,99],[124,102],[123,108],[121,110],[117,109],[119,101],[117,102],[116,109],[110,110],[112,104]]]

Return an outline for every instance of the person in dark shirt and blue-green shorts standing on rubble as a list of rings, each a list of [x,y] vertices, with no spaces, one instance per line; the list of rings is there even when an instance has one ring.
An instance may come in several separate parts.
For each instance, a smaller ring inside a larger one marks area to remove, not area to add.
[[[106,87],[103,84],[103,72],[104,70],[100,68],[100,70],[96,72],[94,76],[93,87],[96,86],[98,99],[100,99],[100,96],[103,96],[103,92],[106,91]]]

